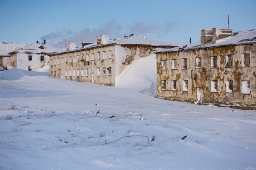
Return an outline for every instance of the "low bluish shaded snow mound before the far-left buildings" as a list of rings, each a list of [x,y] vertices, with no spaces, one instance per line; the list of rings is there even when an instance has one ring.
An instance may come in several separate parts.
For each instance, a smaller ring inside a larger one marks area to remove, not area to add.
[[[13,69],[0,72],[0,79],[4,79],[4,80],[17,80],[24,76],[49,76],[49,73],[28,71],[28,70],[22,70],[18,68],[13,68]]]

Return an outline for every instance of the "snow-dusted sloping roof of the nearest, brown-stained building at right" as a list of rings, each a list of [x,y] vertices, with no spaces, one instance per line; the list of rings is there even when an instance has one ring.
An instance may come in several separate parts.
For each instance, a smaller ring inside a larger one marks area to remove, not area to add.
[[[256,29],[239,31],[230,37],[226,37],[220,40],[217,40],[215,43],[209,42],[207,44],[201,44],[201,42],[195,42],[189,45],[179,46],[171,49],[162,50],[156,53],[166,53],[166,52],[175,52],[175,51],[188,51],[201,48],[213,48],[218,46],[228,46],[228,45],[241,45],[241,44],[254,44],[256,43]]]

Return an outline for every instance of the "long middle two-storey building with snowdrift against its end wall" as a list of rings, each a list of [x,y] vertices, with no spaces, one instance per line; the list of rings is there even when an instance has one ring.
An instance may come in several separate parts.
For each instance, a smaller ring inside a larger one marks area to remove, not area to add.
[[[115,40],[97,36],[96,43],[82,43],[80,48],[70,42],[66,51],[50,55],[50,77],[114,86],[134,60],[173,47],[177,45],[133,34]]]

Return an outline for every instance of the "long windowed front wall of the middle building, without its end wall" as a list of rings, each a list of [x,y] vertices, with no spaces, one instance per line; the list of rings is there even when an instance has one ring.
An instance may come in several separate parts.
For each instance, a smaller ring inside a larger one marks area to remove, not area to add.
[[[93,54],[94,59],[92,59]],[[104,58],[103,55],[105,55]],[[114,85],[114,56],[115,45],[53,54],[50,57],[50,77]],[[103,74],[103,69],[105,69],[105,74]]]

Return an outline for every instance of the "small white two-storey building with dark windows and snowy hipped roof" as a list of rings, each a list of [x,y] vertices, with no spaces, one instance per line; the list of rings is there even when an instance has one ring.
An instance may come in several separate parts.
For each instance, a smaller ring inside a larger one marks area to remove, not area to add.
[[[49,54],[60,52],[58,48],[51,47],[45,43],[33,43],[18,50],[9,52],[12,68],[23,70],[37,70],[49,65]]]

